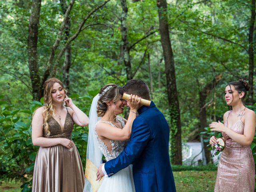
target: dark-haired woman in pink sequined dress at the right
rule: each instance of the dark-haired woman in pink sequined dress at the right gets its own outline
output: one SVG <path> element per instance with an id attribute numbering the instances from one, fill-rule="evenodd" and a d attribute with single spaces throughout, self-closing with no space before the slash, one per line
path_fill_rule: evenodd
<path id="1" fill-rule="evenodd" d="M 244 80 L 230 82 L 225 88 L 226 103 L 232 108 L 224 116 L 224 124 L 212 122 L 212 131 L 222 132 L 226 147 L 222 152 L 214 192 L 254 192 L 255 167 L 250 144 L 255 133 L 255 113 L 244 106 L 249 90 Z M 210 138 L 210 144 L 216 144 Z"/>

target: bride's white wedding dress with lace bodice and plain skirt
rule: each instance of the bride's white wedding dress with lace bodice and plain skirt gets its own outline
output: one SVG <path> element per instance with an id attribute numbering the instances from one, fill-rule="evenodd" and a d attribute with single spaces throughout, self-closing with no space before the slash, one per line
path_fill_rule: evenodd
<path id="1" fill-rule="evenodd" d="M 125 122 L 121 116 L 116 116 L 116 120 L 121 123 L 122 128 Z M 116 127 L 112 122 L 99 121 L 108 123 L 113 127 Z M 97 122 L 98 123 L 98 122 Z M 125 148 L 127 141 L 114 141 L 111 140 L 112 151 L 108 151 L 108 148 L 104 142 L 99 138 L 95 131 L 96 141 L 102 154 L 105 156 L 106 160 L 116 158 Z M 134 181 L 132 176 L 132 165 L 120 170 L 111 177 L 104 177 L 98 192 L 135 192 Z"/>

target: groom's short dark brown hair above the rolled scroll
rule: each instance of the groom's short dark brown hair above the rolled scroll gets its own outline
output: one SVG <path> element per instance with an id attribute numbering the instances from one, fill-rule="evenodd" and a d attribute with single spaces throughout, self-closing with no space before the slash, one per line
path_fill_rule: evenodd
<path id="1" fill-rule="evenodd" d="M 134 94 L 143 99 L 150 100 L 150 92 L 148 85 L 140 79 L 129 80 L 121 89 L 121 94 Z"/>

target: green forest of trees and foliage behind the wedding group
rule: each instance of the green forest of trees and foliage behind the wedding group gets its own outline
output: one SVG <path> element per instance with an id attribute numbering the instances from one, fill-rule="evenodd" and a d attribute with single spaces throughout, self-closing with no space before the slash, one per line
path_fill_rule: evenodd
<path id="1" fill-rule="evenodd" d="M 247 80 L 245 104 L 256 110 L 255 39 L 255 0 L 1 1 L 0 180 L 29 191 L 38 149 L 31 118 L 50 77 L 87 115 L 103 85 L 144 80 L 170 125 L 171 163 L 181 165 L 182 145 L 198 141 L 202 164 L 212 164 L 217 134 L 208 124 L 228 110 L 226 84 Z M 87 136 L 75 126 L 84 167 Z M 256 138 L 251 149 L 256 160 Z"/>

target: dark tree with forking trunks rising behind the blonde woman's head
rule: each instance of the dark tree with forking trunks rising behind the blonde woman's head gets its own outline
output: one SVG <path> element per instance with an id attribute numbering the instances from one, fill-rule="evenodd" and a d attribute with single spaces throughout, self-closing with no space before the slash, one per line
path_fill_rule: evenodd
<path id="1" fill-rule="evenodd" d="M 29 53 L 29 60 L 30 60 L 29 63 L 30 63 L 30 76 L 31 76 L 31 82 L 32 82 L 33 99 L 40 100 L 40 98 L 43 96 L 44 82 L 47 80 L 47 78 L 49 76 L 54 77 L 56 75 L 56 69 L 59 66 L 60 59 L 63 56 L 63 54 L 65 53 L 65 51 L 70 47 L 70 43 L 77 38 L 77 36 L 83 30 L 85 22 L 92 16 L 92 14 L 94 14 L 94 12 L 96 12 L 100 8 L 102 8 L 109 1 L 110 0 L 105 0 L 104 2 L 102 2 L 101 4 L 99 4 L 98 6 L 93 8 L 88 14 L 86 14 L 86 16 L 84 16 L 84 18 L 80 22 L 78 30 L 75 32 L 75 34 L 73 36 L 71 36 L 70 38 L 66 38 L 66 40 L 65 40 L 66 43 L 64 43 L 64 47 L 60 49 L 60 52 L 58 53 L 58 55 L 55 59 L 55 62 L 54 62 L 56 51 L 57 51 L 58 47 L 60 46 L 63 31 L 64 30 L 70 31 L 70 29 L 68 29 L 68 27 L 70 27 L 70 26 L 68 26 L 68 20 L 70 19 L 70 11 L 74 5 L 75 0 L 70 0 L 69 5 L 66 7 L 65 6 L 63 7 L 64 10 L 66 10 L 66 12 L 63 16 L 62 23 L 58 30 L 56 40 L 51 47 L 50 56 L 48 58 L 48 62 L 46 64 L 46 69 L 44 70 L 44 74 L 43 74 L 42 78 L 40 78 L 40 76 L 38 74 L 39 65 L 38 65 L 38 61 L 37 61 L 37 38 L 38 38 L 38 24 L 39 24 L 41 1 L 39 1 L 39 0 L 33 1 L 32 12 L 31 12 L 30 21 L 29 21 L 30 33 L 28 36 L 28 48 L 29 48 L 28 53 Z M 61 1 L 61 2 L 62 2 L 62 6 L 63 6 L 63 1 Z M 40 5 L 40 6 L 38 6 L 38 5 Z M 70 59 L 69 58 L 70 52 L 66 52 L 66 53 L 67 53 L 66 56 L 68 57 L 68 59 Z M 68 66 L 66 68 L 64 67 L 64 70 L 66 70 L 66 71 L 69 70 L 69 67 L 70 66 Z"/>

